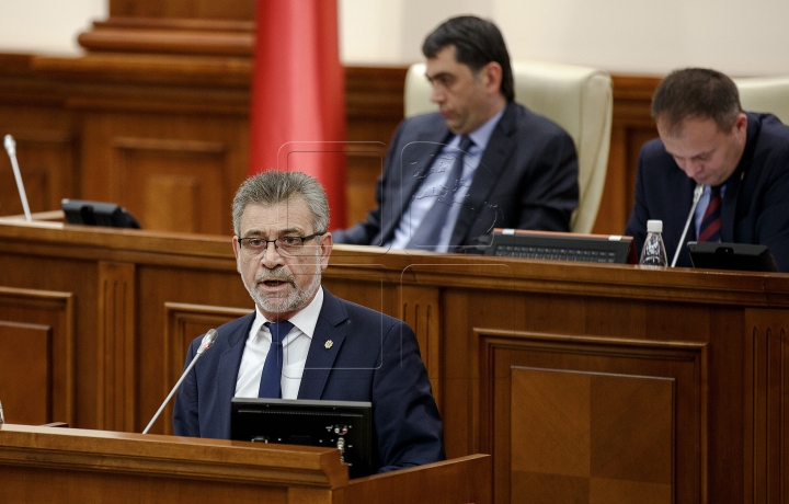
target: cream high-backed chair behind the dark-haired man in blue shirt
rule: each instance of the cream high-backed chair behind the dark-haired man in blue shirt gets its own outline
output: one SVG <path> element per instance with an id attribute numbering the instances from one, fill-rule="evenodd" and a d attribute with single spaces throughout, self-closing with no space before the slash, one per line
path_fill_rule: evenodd
<path id="1" fill-rule="evenodd" d="M 405 116 L 437 110 L 424 64 L 405 76 Z M 590 232 L 597 217 L 608 165 L 613 93 L 610 76 L 574 65 L 513 61 L 515 101 L 563 127 L 579 157 L 579 207 L 571 230 Z"/>

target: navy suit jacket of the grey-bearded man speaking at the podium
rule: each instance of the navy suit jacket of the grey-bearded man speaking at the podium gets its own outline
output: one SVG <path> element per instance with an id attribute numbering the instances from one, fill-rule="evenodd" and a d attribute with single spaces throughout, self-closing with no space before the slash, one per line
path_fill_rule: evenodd
<path id="1" fill-rule="evenodd" d="M 179 389 L 175 435 L 230 438 L 230 400 L 254 317 L 218 328 L 214 346 Z M 201 341 L 192 342 L 186 365 Z M 411 328 L 325 289 L 298 398 L 371 402 L 381 471 L 446 458 L 438 409 Z"/>

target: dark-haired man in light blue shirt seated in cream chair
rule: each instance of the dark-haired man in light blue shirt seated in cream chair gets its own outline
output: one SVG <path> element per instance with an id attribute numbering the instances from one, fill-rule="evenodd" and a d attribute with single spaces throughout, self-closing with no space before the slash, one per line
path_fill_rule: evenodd
<path id="1" fill-rule="evenodd" d="M 439 112 L 403 121 L 392 137 L 367 220 L 336 243 L 474 252 L 493 228 L 569 231 L 578 159 L 557 124 L 515 103 L 499 28 L 446 21 L 424 42 Z"/>

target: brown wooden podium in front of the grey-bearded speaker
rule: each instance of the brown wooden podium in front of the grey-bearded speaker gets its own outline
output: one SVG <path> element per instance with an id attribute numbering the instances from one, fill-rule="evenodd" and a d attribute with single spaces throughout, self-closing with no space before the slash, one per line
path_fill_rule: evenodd
<path id="1" fill-rule="evenodd" d="M 491 459 L 474 455 L 348 480 L 339 450 L 0 425 L 0 502 L 491 502 Z"/>

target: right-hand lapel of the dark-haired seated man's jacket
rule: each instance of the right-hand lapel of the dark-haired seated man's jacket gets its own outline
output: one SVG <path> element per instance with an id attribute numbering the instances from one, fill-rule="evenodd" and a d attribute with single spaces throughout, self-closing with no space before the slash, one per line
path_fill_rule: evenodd
<path id="1" fill-rule="evenodd" d="M 488 146 L 482 152 L 482 159 L 471 180 L 468 197 L 460 207 L 449 245 L 460 245 L 468 239 L 467 234 L 483 205 L 487 204 L 491 191 L 504 176 L 507 160 L 515 149 L 515 140 L 512 137 L 515 129 L 515 112 L 516 105 L 512 102 L 507 103 L 504 114 L 488 140 Z M 495 215 L 501 215 L 501 211 L 496 211 Z M 501 226 L 501 222 L 490 222 L 490 225 L 492 228 L 495 225 Z"/>

